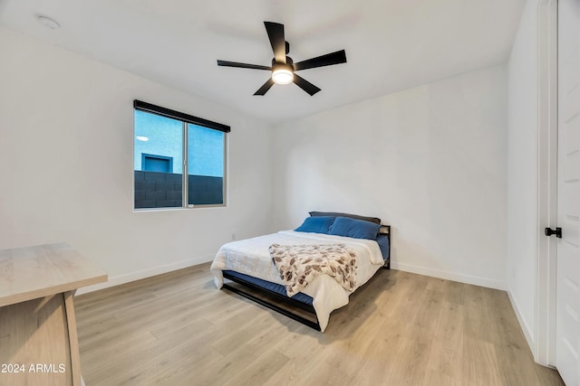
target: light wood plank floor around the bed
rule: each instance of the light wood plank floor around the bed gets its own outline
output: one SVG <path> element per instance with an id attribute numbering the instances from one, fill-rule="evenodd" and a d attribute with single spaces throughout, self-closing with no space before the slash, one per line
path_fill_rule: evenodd
<path id="1" fill-rule="evenodd" d="M 209 266 L 75 298 L 96 385 L 562 385 L 503 291 L 382 269 L 321 334 L 216 289 Z"/>

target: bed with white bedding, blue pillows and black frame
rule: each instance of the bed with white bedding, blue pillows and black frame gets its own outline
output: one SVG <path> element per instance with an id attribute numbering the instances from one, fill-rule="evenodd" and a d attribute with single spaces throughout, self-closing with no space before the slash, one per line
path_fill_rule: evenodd
<path id="1" fill-rule="evenodd" d="M 333 310 L 347 305 L 349 296 L 380 268 L 390 268 L 391 227 L 382 225 L 379 218 L 349 213 L 310 215 L 294 231 L 228 242 L 218 250 L 210 270 L 218 288 L 236 292 L 324 332 Z M 345 285 L 337 278 L 339 275 L 333 278 L 319 274 L 289 297 L 288 281 L 281 276 L 280 263 L 273 257 L 288 251 L 302 253 L 304 249 L 321 249 L 323 254 L 327 251 L 324 249 L 348 251 L 355 259 L 355 264 L 351 262 L 352 279 Z M 348 266 L 348 262 L 345 264 Z"/>

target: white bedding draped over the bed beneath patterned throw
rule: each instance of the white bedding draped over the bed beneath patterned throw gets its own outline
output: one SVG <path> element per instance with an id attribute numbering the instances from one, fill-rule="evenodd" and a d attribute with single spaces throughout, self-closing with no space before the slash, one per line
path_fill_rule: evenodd
<path id="1" fill-rule="evenodd" d="M 381 249 L 375 240 L 352 239 L 322 233 L 279 231 L 253 239 L 228 242 L 222 246 L 210 268 L 215 276 L 216 286 L 223 287 L 222 270 L 227 269 L 284 285 L 268 252 L 270 245 L 275 243 L 281 245 L 345 244 L 356 253 L 357 269 L 354 290 L 372 278 L 377 269 L 384 264 Z M 352 293 L 328 275 L 315 278 L 302 292 L 313 298 L 314 311 L 322 332 L 328 325 L 331 312 L 346 306 L 348 297 Z"/>

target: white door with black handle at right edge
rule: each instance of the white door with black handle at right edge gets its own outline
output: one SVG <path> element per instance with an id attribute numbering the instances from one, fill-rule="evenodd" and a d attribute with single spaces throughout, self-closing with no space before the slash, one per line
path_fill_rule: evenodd
<path id="1" fill-rule="evenodd" d="M 556 367 L 580 386 L 580 0 L 558 1 Z"/>

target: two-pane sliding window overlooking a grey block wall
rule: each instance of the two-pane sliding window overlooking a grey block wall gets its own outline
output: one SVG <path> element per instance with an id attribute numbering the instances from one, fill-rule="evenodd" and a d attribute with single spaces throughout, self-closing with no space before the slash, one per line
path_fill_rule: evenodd
<path id="1" fill-rule="evenodd" d="M 140 100 L 133 108 L 135 209 L 225 205 L 230 128 Z"/>

